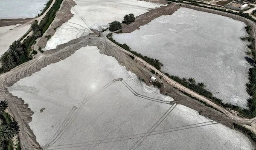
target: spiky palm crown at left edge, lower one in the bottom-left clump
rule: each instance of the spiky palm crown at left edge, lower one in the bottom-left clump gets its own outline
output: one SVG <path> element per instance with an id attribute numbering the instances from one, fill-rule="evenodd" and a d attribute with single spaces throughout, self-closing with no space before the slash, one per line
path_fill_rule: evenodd
<path id="1" fill-rule="evenodd" d="M 0 121 L 0 139 L 3 141 L 11 141 L 17 133 L 19 133 L 17 121 L 13 121 L 10 124 L 4 124 L 3 121 Z"/>

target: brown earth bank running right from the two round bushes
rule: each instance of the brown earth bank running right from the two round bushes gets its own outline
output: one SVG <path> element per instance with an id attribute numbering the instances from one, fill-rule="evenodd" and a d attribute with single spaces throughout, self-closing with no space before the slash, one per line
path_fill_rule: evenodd
<path id="1" fill-rule="evenodd" d="M 122 23 L 122 33 L 131 33 L 134 30 L 140 29 L 139 27 L 141 25 L 148 24 L 151 20 L 163 16 L 163 15 L 171 15 L 176 10 L 180 8 L 177 4 L 171 3 L 168 6 L 162 6 L 159 8 L 151 9 L 150 11 L 140 15 L 139 17 L 136 17 L 136 20 L 126 25 Z"/>

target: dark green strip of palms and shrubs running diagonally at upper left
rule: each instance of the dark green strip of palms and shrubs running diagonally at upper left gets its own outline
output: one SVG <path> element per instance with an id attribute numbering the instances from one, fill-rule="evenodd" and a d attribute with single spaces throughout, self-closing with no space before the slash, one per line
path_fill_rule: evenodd
<path id="1" fill-rule="evenodd" d="M 10 45 L 10 51 L 6 51 L 0 58 L 0 62 L 2 64 L 0 73 L 9 71 L 12 68 L 15 68 L 17 65 L 31 60 L 32 54 L 37 54 L 36 51 L 31 50 L 31 47 L 36 43 L 37 38 L 42 37 L 44 32 L 48 29 L 49 25 L 54 20 L 56 12 L 60 8 L 62 1 L 63 0 L 55 1 L 52 8 L 47 12 L 46 16 L 43 18 L 39 25 L 37 21 L 31 25 L 33 31 L 33 35 L 31 37 L 27 37 L 23 43 L 20 43 L 20 41 L 15 41 L 12 43 L 12 45 Z M 51 2 L 51 0 L 49 2 Z M 51 4 L 49 2 L 47 3 L 48 5 Z"/>

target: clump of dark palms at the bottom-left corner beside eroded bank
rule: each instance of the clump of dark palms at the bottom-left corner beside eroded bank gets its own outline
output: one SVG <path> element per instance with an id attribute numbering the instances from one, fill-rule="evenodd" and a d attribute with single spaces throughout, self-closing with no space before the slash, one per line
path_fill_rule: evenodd
<path id="1" fill-rule="evenodd" d="M 7 105 L 6 100 L 0 102 L 0 150 L 12 148 L 12 139 L 19 133 L 18 122 L 12 120 L 11 116 L 5 112 Z"/>

